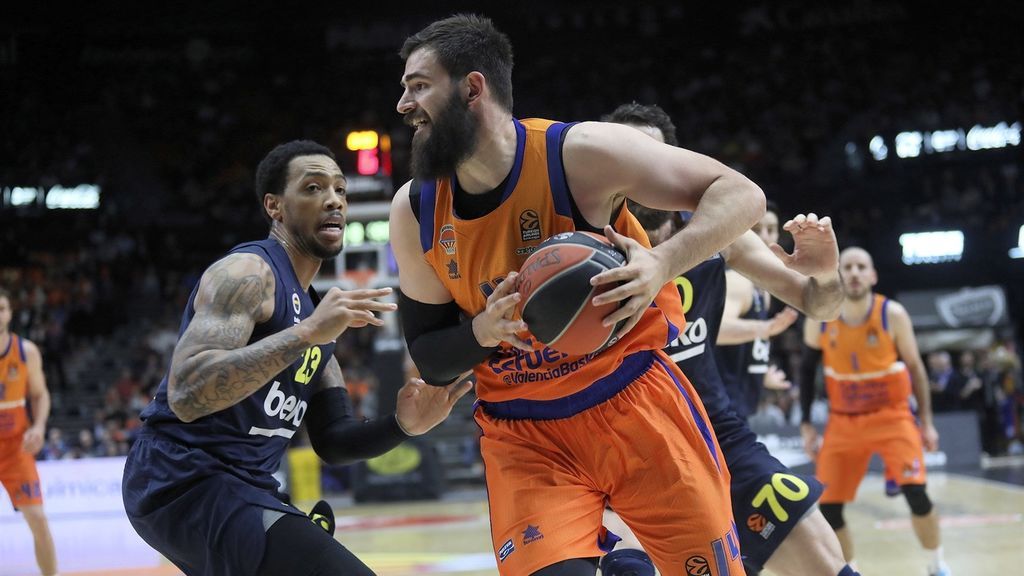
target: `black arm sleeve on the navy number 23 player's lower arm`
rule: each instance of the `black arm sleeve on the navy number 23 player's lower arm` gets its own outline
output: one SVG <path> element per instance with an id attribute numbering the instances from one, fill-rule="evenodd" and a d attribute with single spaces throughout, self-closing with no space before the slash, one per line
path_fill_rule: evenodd
<path id="1" fill-rule="evenodd" d="M 409 438 L 394 414 L 373 420 L 357 419 L 352 415 L 348 390 L 340 386 L 313 395 L 306 426 L 313 451 L 333 465 L 380 456 Z"/>

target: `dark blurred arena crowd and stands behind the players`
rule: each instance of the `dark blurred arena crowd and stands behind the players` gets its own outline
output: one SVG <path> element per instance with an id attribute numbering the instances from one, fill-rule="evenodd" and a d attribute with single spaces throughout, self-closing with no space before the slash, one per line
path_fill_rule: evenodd
<path id="1" fill-rule="evenodd" d="M 391 138 L 395 187 L 407 179 L 396 51 L 444 15 L 433 9 L 274 17 L 207 7 L 121 18 L 97 10 L 0 25 L 0 189 L 103 191 L 96 210 L 0 209 L 11 328 L 40 344 L 54 398 L 40 457 L 126 452 L 203 269 L 266 234 L 252 179 L 270 148 L 316 139 L 350 172 L 344 135 L 374 129 Z M 1018 142 L 997 150 L 877 160 L 869 145 L 903 131 L 1019 123 L 1024 40 L 1013 3 L 938 13 L 882 2 L 525 1 L 488 15 L 516 49 L 517 116 L 586 120 L 631 100 L 657 104 L 681 146 L 749 175 L 783 221 L 831 215 L 841 245 L 874 254 L 880 291 L 1004 285 L 1014 325 L 992 345 L 930 351 L 927 362 L 937 411 L 977 411 L 986 452 L 1021 450 L 1014 334 L 1024 260 L 1007 259 L 1024 224 L 1019 124 Z M 962 262 L 900 262 L 899 233 L 948 228 L 971 239 Z M 368 414 L 373 338 L 349 331 L 338 345 Z M 797 328 L 774 343 L 792 377 L 800 345 Z M 799 421 L 798 387 L 766 395 L 755 417 Z"/>

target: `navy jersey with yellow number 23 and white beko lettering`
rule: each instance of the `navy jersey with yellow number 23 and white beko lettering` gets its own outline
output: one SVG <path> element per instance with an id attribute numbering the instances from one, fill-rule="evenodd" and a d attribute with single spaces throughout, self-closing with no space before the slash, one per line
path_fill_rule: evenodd
<path id="1" fill-rule="evenodd" d="M 312 314 L 318 301 L 316 293 L 311 287 L 308 292 L 302 289 L 288 254 L 276 240 L 240 244 L 229 253 L 260 256 L 270 264 L 276 280 L 273 315 L 254 327 L 249 343 L 291 328 Z M 193 303 L 198 290 L 197 283 L 182 315 L 178 337 L 195 315 Z M 289 441 L 302 423 L 334 346 L 330 343 L 309 347 L 249 398 L 187 423 L 179 420 L 168 405 L 165 375 L 156 398 L 142 411 L 143 430 L 201 449 L 248 483 L 275 490 L 278 483 L 270 475 L 276 471 Z M 200 470 L 183 471 L 190 477 L 202 476 Z"/>

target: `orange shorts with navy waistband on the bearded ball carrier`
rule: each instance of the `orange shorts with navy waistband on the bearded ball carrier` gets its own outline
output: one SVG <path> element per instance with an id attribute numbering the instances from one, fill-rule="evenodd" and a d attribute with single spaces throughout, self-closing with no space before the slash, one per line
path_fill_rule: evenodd
<path id="1" fill-rule="evenodd" d="M 567 398 L 481 401 L 476 421 L 502 575 L 610 551 L 606 505 L 663 574 L 743 574 L 725 460 L 696 393 L 660 351 L 627 357 Z"/>

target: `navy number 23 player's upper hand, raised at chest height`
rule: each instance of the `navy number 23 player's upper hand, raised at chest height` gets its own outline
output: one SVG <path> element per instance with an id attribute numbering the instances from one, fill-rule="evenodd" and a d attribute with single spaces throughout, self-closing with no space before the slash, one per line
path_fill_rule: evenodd
<path id="1" fill-rule="evenodd" d="M 359 290 L 342 290 L 334 287 L 324 294 L 316 304 L 308 323 L 310 339 L 316 344 L 326 344 L 338 338 L 348 328 L 364 326 L 381 326 L 384 321 L 375 312 L 394 312 L 398 304 L 382 302 L 382 298 L 391 293 L 390 288 L 364 288 Z"/>

